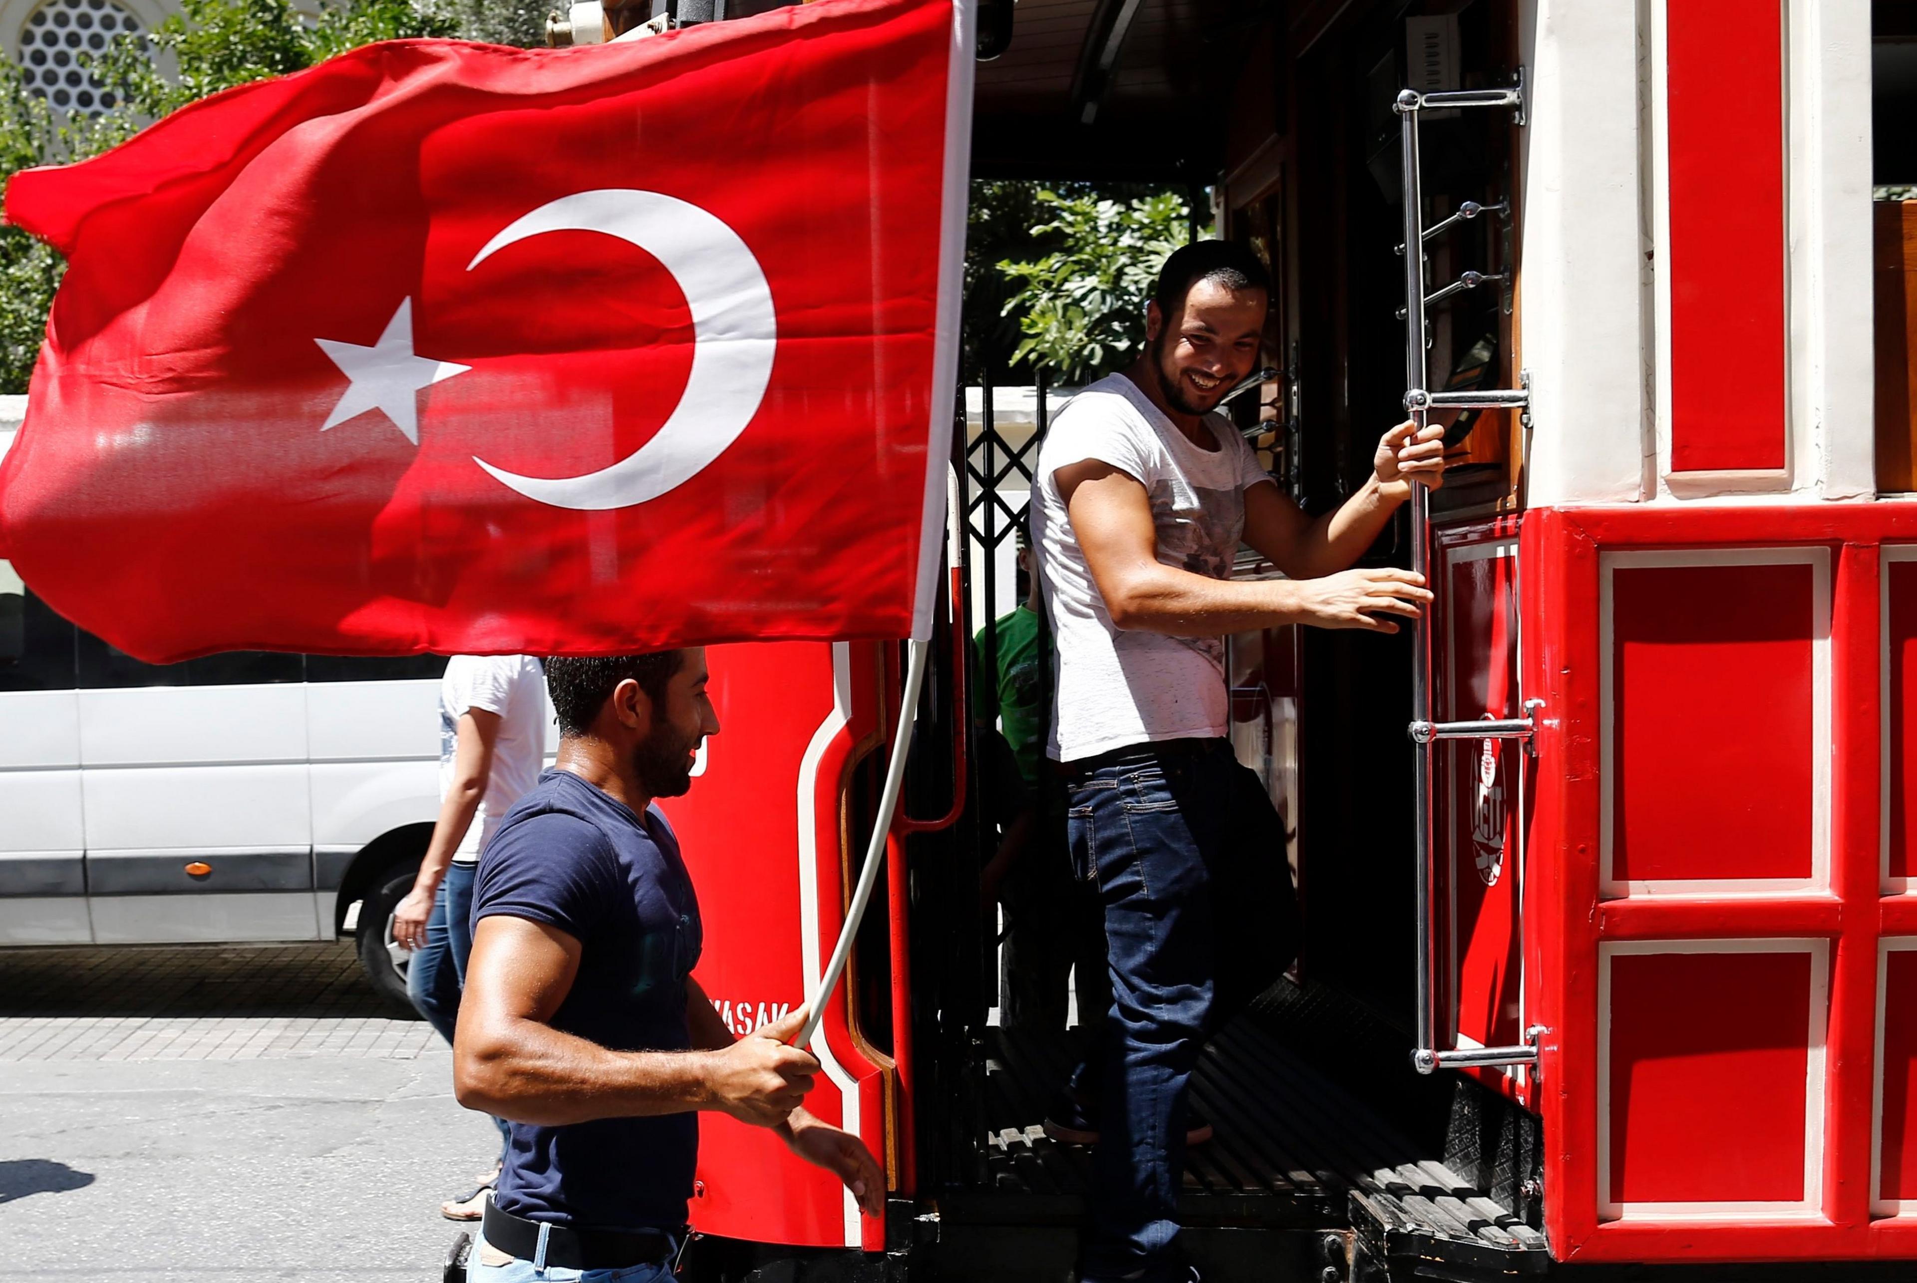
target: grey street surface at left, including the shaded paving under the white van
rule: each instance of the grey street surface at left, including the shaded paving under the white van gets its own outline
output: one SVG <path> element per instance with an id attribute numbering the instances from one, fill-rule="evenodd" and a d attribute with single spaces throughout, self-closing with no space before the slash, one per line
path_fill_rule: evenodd
<path id="1" fill-rule="evenodd" d="M 497 1133 L 347 945 L 0 951 L 0 1279 L 437 1283 Z"/>

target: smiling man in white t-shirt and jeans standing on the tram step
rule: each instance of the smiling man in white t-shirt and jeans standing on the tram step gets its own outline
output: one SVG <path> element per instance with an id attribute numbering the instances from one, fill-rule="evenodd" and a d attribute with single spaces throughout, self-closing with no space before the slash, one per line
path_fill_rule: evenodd
<path id="1" fill-rule="evenodd" d="M 1173 253 L 1123 374 L 1072 399 L 1031 485 L 1051 616 L 1049 754 L 1070 779 L 1072 859 L 1097 880 L 1112 1009 L 1045 1126 L 1097 1143 L 1081 1279 L 1185 1281 L 1185 1105 L 1198 1053 L 1290 965 L 1284 828 L 1233 756 L 1225 637 L 1286 623 L 1396 633 L 1430 600 L 1405 570 L 1346 570 L 1413 483 L 1444 478 L 1444 432 L 1384 433 L 1371 479 L 1311 518 L 1212 410 L 1258 366 L 1269 284 L 1250 249 Z M 1233 581 L 1248 543 L 1290 575 Z"/>

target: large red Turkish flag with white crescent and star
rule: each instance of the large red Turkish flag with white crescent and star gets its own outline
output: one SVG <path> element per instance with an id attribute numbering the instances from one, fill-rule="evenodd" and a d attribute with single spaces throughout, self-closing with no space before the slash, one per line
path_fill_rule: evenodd
<path id="1" fill-rule="evenodd" d="M 397 40 L 8 186 L 0 556 L 151 662 L 924 635 L 962 0 Z"/>

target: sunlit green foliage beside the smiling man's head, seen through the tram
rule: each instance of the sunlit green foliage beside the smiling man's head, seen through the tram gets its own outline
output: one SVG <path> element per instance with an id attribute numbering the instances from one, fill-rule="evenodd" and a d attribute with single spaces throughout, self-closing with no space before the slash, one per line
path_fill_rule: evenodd
<path id="1" fill-rule="evenodd" d="M 1012 362 L 1081 384 L 1137 353 L 1158 268 L 1190 240 L 1190 207 L 1175 192 L 1120 199 L 1041 190 L 1033 199 L 1047 221 L 1031 236 L 1052 247 L 997 265 L 1012 286 L 1001 311 L 1022 336 Z"/>

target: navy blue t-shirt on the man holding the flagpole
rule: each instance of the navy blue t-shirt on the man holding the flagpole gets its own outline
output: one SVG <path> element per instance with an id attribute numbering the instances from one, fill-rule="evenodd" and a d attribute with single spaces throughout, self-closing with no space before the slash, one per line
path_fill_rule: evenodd
<path id="1" fill-rule="evenodd" d="M 700 905 L 658 811 L 631 807 L 569 771 L 546 771 L 479 857 L 473 926 L 504 915 L 579 942 L 579 974 L 552 1028 L 613 1051 L 684 1051 L 686 976 L 700 961 Z M 495 1202 L 581 1229 L 681 1229 L 698 1160 L 698 1114 L 512 1124 Z"/>

